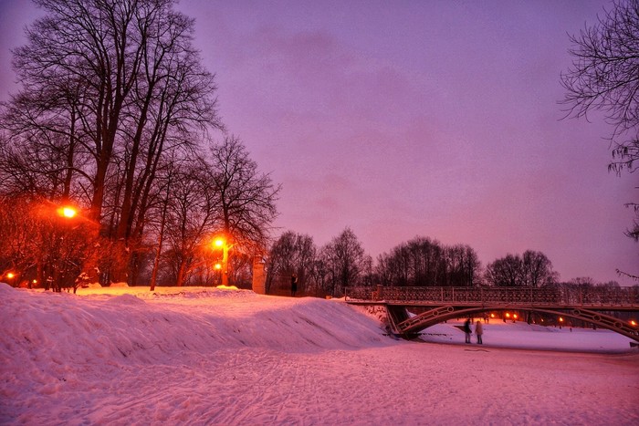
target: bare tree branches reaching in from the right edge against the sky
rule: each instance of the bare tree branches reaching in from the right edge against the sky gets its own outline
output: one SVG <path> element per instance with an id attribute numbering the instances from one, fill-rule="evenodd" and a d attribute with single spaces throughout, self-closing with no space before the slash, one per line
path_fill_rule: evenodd
<path id="1" fill-rule="evenodd" d="M 571 36 L 572 66 L 561 75 L 568 116 L 601 110 L 613 126 L 610 170 L 634 172 L 639 160 L 639 1 L 615 0 L 597 24 Z M 639 204 L 627 235 L 639 241 Z"/>

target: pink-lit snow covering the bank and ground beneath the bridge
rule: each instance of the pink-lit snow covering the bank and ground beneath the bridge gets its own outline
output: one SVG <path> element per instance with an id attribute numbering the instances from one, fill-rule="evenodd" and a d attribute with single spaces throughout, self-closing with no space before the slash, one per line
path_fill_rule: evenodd
<path id="1" fill-rule="evenodd" d="M 0 424 L 639 424 L 639 350 L 605 330 L 407 342 L 340 300 L 3 284 L 0 324 Z"/>

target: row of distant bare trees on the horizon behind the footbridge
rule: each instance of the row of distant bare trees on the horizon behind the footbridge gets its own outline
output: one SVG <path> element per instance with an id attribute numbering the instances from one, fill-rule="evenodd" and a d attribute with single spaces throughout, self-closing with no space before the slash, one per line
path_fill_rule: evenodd
<path id="1" fill-rule="evenodd" d="M 372 257 L 361 248 L 350 228 L 317 247 L 313 238 L 287 231 L 267 252 L 267 293 L 288 294 L 290 277 L 298 277 L 299 293 L 343 296 L 348 286 L 502 286 L 617 288 L 619 283 L 595 283 L 580 277 L 561 282 L 550 259 L 541 252 L 505 255 L 482 267 L 475 250 L 464 244 L 445 245 L 428 237 L 398 244 Z"/>

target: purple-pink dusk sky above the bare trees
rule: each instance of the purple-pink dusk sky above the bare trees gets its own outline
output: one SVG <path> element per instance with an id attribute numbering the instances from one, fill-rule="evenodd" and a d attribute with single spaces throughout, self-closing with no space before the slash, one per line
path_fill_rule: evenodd
<path id="1" fill-rule="evenodd" d="M 623 235 L 636 176 L 609 173 L 598 117 L 564 119 L 567 33 L 606 1 L 183 0 L 220 113 L 283 184 L 277 226 L 326 244 L 347 226 L 376 258 L 416 235 L 483 265 L 537 250 L 561 279 L 639 270 Z M 9 48 L 37 10 L 0 0 Z"/>

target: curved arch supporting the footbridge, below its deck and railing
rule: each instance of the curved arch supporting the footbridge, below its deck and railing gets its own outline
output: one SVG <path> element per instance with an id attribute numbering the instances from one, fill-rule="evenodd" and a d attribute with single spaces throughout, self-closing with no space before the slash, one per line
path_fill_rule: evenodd
<path id="1" fill-rule="evenodd" d="M 393 332 L 403 336 L 404 338 L 414 337 L 425 328 L 434 326 L 435 324 L 442 323 L 449 319 L 458 317 L 474 317 L 477 314 L 484 312 L 507 310 L 538 312 L 556 315 L 558 317 L 571 317 L 594 324 L 597 327 L 612 330 L 626 338 L 632 338 L 639 342 L 639 329 L 637 327 L 633 327 L 619 318 L 589 309 L 582 309 L 580 307 L 554 309 L 549 307 L 456 307 L 453 305 L 446 305 L 442 307 L 432 307 L 422 314 L 410 317 L 408 315 L 407 307 L 386 305 L 386 311 L 389 322 L 391 323 L 390 325 L 393 328 Z"/>

